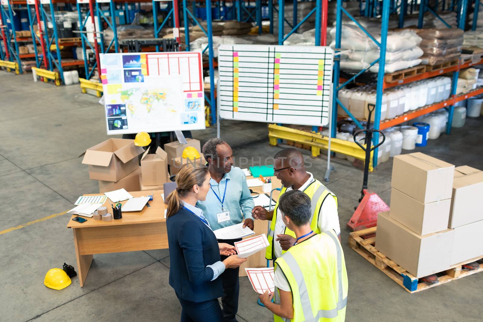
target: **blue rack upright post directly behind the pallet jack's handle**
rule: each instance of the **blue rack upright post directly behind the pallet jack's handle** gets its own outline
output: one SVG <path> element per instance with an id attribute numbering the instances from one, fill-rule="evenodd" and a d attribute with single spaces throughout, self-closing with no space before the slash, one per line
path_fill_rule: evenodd
<path id="1" fill-rule="evenodd" d="M 376 107 L 374 114 L 374 129 L 378 130 L 381 125 L 381 105 L 383 101 L 383 84 L 384 84 L 384 69 L 386 63 L 386 42 L 387 42 L 387 28 L 389 27 L 389 0 L 383 0 L 383 14 L 381 23 L 381 56 L 379 57 L 379 70 L 377 73 L 377 88 L 376 88 Z M 379 132 L 374 132 L 374 145 L 379 144 Z M 370 144 L 370 142 L 368 142 Z M 370 147 L 368 147 L 370 148 Z M 377 167 L 377 148 L 374 149 L 372 156 L 372 167 Z"/>

